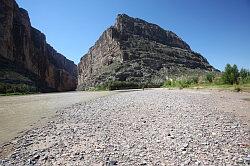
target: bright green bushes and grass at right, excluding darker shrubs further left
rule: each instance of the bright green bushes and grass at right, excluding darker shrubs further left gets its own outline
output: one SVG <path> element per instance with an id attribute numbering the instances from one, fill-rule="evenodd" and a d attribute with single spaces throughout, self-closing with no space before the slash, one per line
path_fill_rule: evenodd
<path id="1" fill-rule="evenodd" d="M 215 87 L 223 89 L 242 89 L 250 91 L 250 71 L 247 69 L 238 70 L 236 65 L 227 64 L 222 73 L 209 72 L 204 75 L 186 76 L 174 79 L 167 79 L 163 87 L 167 88 L 188 88 L 188 87 Z"/>

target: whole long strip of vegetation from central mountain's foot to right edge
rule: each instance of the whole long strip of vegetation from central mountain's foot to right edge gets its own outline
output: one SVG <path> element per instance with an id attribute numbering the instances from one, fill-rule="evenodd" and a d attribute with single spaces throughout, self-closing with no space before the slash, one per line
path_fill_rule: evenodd
<path id="1" fill-rule="evenodd" d="M 190 75 L 167 78 L 162 81 L 137 82 L 137 81 L 108 81 L 95 87 L 85 89 L 90 91 L 119 90 L 119 89 L 144 89 L 144 88 L 222 88 L 241 91 L 250 91 L 250 71 L 238 70 L 236 65 L 227 64 L 223 72 L 193 73 Z"/>

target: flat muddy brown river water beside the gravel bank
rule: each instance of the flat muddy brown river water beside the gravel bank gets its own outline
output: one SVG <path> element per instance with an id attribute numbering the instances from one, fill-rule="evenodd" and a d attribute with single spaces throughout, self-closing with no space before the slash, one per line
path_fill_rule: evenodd
<path id="1" fill-rule="evenodd" d="M 66 92 L 0 97 L 0 145 L 48 122 L 57 110 L 113 92 Z"/>

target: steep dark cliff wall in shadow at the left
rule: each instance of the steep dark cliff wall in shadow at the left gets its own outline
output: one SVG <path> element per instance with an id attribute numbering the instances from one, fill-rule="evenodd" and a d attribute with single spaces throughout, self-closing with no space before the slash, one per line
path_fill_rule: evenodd
<path id="1" fill-rule="evenodd" d="M 0 82 L 24 83 L 39 91 L 74 90 L 77 67 L 57 53 L 26 10 L 14 0 L 0 0 Z"/>

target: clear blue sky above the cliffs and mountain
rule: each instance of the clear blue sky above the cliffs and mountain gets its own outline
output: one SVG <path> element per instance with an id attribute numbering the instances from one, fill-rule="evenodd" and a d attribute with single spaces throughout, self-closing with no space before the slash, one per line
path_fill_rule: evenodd
<path id="1" fill-rule="evenodd" d="M 17 0 L 48 43 L 76 64 L 118 13 L 171 30 L 222 70 L 250 68 L 250 0 Z"/>

